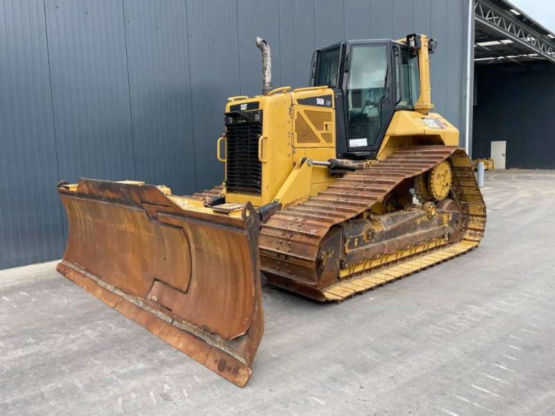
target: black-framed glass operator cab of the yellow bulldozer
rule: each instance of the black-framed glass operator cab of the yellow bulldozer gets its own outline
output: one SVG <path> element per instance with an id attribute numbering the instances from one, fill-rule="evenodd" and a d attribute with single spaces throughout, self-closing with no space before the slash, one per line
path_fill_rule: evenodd
<path id="1" fill-rule="evenodd" d="M 419 41 L 348 40 L 314 51 L 310 85 L 335 94 L 337 157 L 375 157 L 393 113 L 414 110 Z M 429 53 L 435 46 L 432 40 Z"/>

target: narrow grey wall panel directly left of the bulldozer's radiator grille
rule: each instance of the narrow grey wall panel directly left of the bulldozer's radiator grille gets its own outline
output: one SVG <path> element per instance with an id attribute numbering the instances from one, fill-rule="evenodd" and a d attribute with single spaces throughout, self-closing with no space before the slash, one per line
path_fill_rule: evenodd
<path id="1" fill-rule="evenodd" d="M 237 44 L 237 3 L 228 0 L 187 1 L 189 71 L 196 188 L 211 188 L 223 180 L 216 159 L 216 140 L 223 132 L 226 99 L 241 91 Z"/>

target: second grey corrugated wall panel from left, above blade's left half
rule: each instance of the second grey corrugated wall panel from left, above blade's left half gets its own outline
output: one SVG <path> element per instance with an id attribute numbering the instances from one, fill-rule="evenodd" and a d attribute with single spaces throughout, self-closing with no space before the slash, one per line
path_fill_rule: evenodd
<path id="1" fill-rule="evenodd" d="M 121 1 L 45 5 L 60 177 L 135 177 Z"/>

